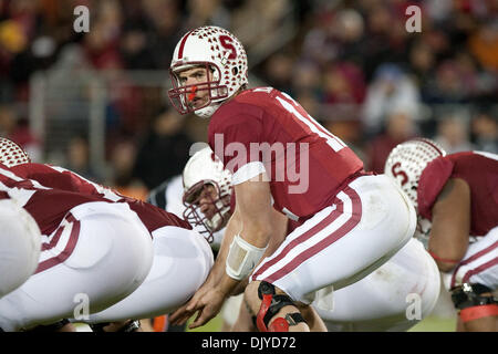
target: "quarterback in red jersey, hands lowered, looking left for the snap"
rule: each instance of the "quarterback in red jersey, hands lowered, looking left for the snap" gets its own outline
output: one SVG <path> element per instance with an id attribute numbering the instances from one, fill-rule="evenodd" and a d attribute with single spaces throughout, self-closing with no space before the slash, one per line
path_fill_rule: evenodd
<path id="1" fill-rule="evenodd" d="M 260 331 L 309 331 L 314 320 L 300 309 L 310 308 L 318 290 L 359 281 L 408 242 L 412 204 L 391 178 L 365 173 L 290 96 L 248 90 L 247 56 L 230 32 L 189 31 L 170 74 L 174 106 L 210 117 L 208 142 L 234 174 L 237 198 L 208 280 L 172 321 L 198 312 L 190 326 L 206 323 L 250 275 L 245 301 Z M 272 207 L 299 227 L 261 260 L 273 235 Z"/>

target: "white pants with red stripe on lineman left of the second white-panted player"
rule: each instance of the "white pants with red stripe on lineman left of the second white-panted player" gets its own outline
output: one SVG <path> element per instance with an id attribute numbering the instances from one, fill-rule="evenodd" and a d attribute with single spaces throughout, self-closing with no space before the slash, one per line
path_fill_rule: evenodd
<path id="1" fill-rule="evenodd" d="M 138 288 L 152 259 L 151 233 L 126 204 L 77 206 L 43 237 L 35 273 L 0 299 L 0 327 L 25 330 L 102 311 Z"/>

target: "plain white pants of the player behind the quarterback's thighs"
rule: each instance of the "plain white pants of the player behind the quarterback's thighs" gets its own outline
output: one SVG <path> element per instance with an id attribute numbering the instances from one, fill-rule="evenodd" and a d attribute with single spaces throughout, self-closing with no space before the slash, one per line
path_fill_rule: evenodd
<path id="1" fill-rule="evenodd" d="M 319 291 L 313 308 L 329 331 L 407 331 L 436 305 L 440 277 L 416 239 L 362 280 Z"/>

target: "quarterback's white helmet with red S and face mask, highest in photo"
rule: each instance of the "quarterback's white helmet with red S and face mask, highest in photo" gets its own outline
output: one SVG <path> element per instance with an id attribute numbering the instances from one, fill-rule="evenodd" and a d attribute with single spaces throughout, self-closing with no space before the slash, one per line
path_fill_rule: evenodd
<path id="1" fill-rule="evenodd" d="M 203 67 L 206 82 L 183 85 L 180 72 Z M 247 55 L 239 40 L 219 27 L 201 27 L 186 33 L 175 48 L 169 69 L 173 88 L 168 91 L 173 106 L 180 113 L 194 112 L 210 117 L 219 105 L 248 83 Z M 207 92 L 207 102 L 195 106 L 190 97 Z M 190 100 L 189 100 L 190 98 Z"/>

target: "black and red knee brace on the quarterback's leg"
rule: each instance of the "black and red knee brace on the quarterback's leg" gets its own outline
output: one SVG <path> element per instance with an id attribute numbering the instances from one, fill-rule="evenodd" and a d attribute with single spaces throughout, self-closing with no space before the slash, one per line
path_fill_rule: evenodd
<path id="1" fill-rule="evenodd" d="M 293 305 L 293 301 L 288 295 L 276 295 L 274 287 L 269 282 L 262 281 L 258 288 L 258 296 L 261 299 L 261 308 L 256 317 L 256 325 L 261 332 L 289 332 L 290 325 L 297 325 L 304 322 L 301 313 L 288 313 L 286 317 L 277 317 L 270 326 L 271 319 L 287 305 Z"/>

